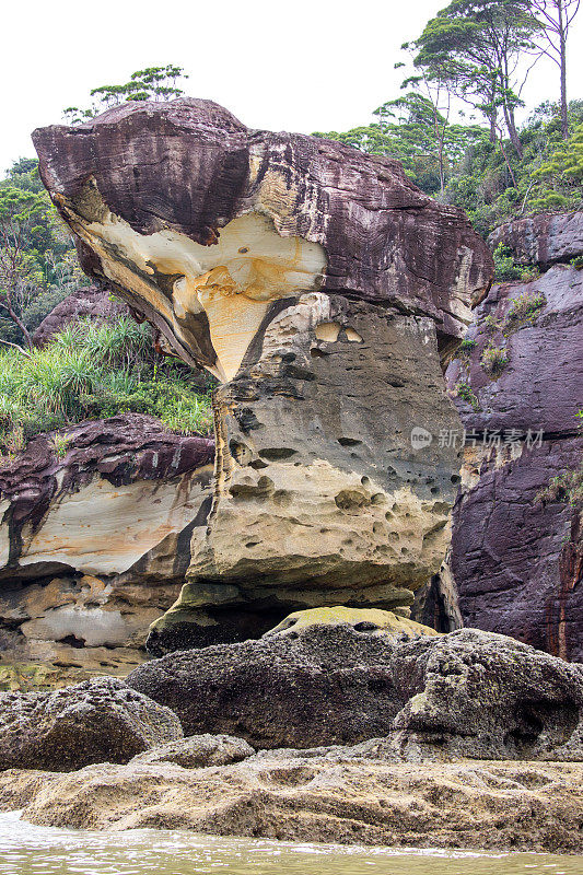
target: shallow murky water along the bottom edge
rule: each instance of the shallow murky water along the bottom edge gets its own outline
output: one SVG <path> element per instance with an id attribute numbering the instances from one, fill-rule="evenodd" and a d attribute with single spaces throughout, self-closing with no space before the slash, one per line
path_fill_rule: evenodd
<path id="1" fill-rule="evenodd" d="M 35 827 L 0 814 L 0 875 L 581 875 L 582 856 L 395 851 L 175 830 Z"/>

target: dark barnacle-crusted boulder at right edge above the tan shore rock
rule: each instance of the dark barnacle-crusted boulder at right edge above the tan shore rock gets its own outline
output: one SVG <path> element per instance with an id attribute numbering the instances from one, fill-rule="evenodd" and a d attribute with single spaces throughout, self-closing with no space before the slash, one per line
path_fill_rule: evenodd
<path id="1" fill-rule="evenodd" d="M 583 669 L 511 638 L 462 629 L 405 642 L 396 745 L 406 759 L 583 759 Z"/>

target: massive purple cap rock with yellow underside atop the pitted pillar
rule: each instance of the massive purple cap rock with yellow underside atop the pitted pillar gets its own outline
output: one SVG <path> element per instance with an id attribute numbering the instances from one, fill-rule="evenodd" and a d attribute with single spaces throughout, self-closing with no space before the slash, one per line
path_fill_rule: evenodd
<path id="1" fill-rule="evenodd" d="M 249 130 L 211 101 L 124 103 L 33 141 L 85 268 L 223 380 L 275 300 L 322 289 L 396 304 L 436 318 L 445 341 L 463 336 L 470 299 L 490 283 L 465 214 L 423 195 L 398 162 Z M 225 317 L 246 331 L 236 351 L 220 342 Z"/>

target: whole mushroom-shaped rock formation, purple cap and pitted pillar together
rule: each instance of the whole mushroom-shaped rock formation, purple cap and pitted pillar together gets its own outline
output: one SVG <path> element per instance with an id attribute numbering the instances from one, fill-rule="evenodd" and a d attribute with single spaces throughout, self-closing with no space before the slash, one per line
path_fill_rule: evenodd
<path id="1" fill-rule="evenodd" d="M 34 142 L 85 270 L 224 384 L 208 527 L 159 638 L 410 604 L 443 558 L 459 467 L 410 433 L 458 427 L 440 354 L 492 272 L 465 215 L 394 161 L 205 101 L 126 104 Z"/>

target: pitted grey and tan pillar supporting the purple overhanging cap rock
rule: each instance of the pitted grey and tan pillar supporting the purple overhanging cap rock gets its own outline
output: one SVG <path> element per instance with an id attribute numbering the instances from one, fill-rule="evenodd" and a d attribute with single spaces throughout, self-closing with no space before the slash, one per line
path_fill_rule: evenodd
<path id="1" fill-rule="evenodd" d="M 413 423 L 459 428 L 431 322 L 312 293 L 259 340 L 214 394 L 214 503 L 154 655 L 257 638 L 294 608 L 411 605 L 447 548 L 458 450 L 410 443 Z"/>

